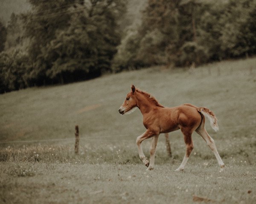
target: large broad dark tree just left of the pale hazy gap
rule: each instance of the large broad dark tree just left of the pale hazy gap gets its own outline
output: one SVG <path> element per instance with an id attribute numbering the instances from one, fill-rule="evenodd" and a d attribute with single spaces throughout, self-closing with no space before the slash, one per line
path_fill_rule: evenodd
<path id="1" fill-rule="evenodd" d="M 23 16 L 32 39 L 29 56 L 35 83 L 64 83 L 110 71 L 120 43 L 118 17 L 125 0 L 30 0 L 34 13 Z"/>

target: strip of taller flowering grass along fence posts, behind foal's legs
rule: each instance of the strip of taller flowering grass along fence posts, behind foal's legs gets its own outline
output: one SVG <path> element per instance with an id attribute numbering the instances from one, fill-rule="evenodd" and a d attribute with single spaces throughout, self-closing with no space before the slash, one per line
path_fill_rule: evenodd
<path id="1" fill-rule="evenodd" d="M 164 140 L 162 138 L 162 140 Z M 71 164 L 141 164 L 135 142 L 119 142 L 119 144 L 83 144 L 80 141 L 79 154 L 74 153 L 74 144 L 30 144 L 17 147 L 16 145 L 0 148 L 0 161 L 11 162 L 49 162 Z M 241 137 L 230 139 L 215 139 L 220 156 L 224 163 L 256 165 L 256 138 Z M 195 148 L 189 163 L 212 163 L 217 161 L 207 144 L 200 136 L 194 134 Z M 150 142 L 143 143 L 143 151 L 149 158 Z M 180 163 L 185 152 L 182 136 L 171 143 L 173 158 L 169 158 L 164 141 L 157 144 L 156 164 Z M 172 161 L 172 162 L 171 162 Z"/>

